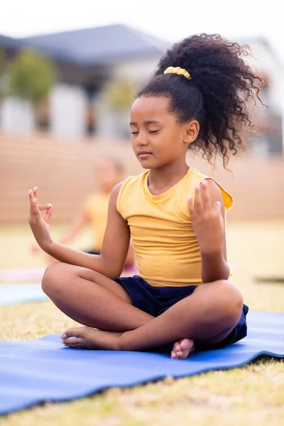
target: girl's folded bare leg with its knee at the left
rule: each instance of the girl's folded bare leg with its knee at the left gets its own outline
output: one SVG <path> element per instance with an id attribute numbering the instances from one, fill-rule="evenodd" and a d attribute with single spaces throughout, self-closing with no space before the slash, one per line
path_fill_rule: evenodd
<path id="1" fill-rule="evenodd" d="M 89 327 L 125 332 L 153 319 L 131 305 L 121 285 L 87 268 L 53 263 L 45 271 L 42 287 L 62 312 Z"/>

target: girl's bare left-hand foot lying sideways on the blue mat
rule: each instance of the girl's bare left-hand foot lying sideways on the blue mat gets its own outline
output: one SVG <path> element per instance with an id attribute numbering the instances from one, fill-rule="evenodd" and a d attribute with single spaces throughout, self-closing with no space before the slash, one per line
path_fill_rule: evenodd
<path id="1" fill-rule="evenodd" d="M 119 350 L 119 337 L 122 333 L 102 332 L 92 327 L 66 329 L 60 334 L 62 344 L 74 349 Z"/>

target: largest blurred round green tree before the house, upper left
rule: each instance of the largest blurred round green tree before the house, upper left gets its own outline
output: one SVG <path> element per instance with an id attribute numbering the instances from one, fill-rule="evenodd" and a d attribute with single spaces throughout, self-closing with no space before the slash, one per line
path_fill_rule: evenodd
<path id="1" fill-rule="evenodd" d="M 54 75 L 51 60 L 32 50 L 22 50 L 9 68 L 10 92 L 37 104 L 48 97 Z"/>

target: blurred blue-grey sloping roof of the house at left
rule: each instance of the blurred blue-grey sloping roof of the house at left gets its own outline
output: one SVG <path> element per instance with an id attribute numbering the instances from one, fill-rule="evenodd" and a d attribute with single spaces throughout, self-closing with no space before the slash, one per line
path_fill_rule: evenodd
<path id="1" fill-rule="evenodd" d="M 121 59 L 161 55 L 168 43 L 129 26 L 111 25 L 22 38 L 55 60 L 80 65 L 107 65 Z M 0 41 L 1 44 L 1 41 Z"/>

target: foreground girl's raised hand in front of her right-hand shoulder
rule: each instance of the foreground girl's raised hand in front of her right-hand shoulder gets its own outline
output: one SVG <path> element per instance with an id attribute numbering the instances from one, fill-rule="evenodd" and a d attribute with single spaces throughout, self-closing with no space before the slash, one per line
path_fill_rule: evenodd
<path id="1" fill-rule="evenodd" d="M 188 209 L 201 252 L 214 254 L 222 251 L 225 223 L 221 202 L 212 201 L 207 180 L 196 185 L 194 204 L 192 197 L 188 197 Z"/>

